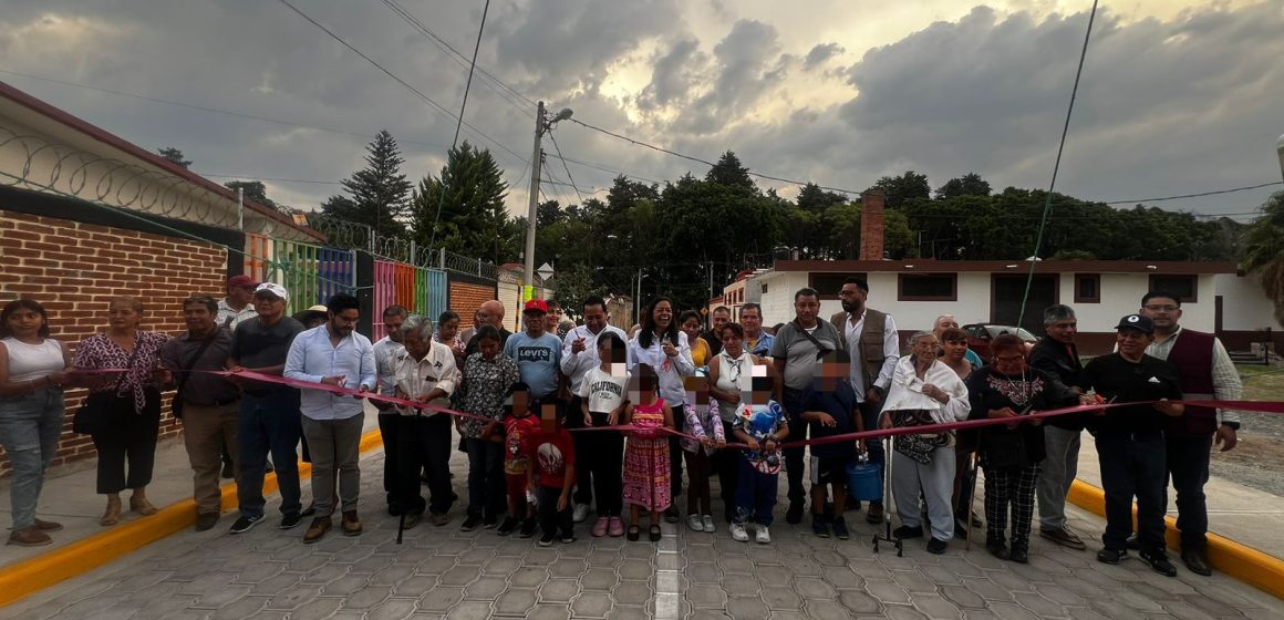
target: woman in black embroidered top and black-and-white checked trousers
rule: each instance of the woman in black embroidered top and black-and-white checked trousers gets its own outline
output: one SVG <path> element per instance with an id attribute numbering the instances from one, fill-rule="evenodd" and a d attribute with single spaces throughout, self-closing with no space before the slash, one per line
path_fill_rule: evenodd
<path id="1" fill-rule="evenodd" d="M 994 356 L 991 365 L 968 377 L 972 404 L 968 417 L 1011 417 L 1014 421 L 986 426 L 980 433 L 978 451 L 981 467 L 985 467 L 985 548 L 1000 560 L 1026 564 L 1044 442 L 1041 420 L 1019 418 L 1032 411 L 1079 404 L 1080 395 L 1057 377 L 1027 366 L 1026 344 L 1012 334 L 995 338 L 990 353 Z M 1009 513 L 1011 549 L 1004 535 Z"/>

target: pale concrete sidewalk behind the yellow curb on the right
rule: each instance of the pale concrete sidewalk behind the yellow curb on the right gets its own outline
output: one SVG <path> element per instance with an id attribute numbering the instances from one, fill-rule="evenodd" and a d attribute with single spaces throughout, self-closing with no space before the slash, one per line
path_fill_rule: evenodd
<path id="1" fill-rule="evenodd" d="M 1079 449 L 1079 479 L 1102 485 L 1097 444 L 1084 433 Z M 1267 556 L 1284 560 L 1284 537 L 1275 529 L 1284 520 L 1284 497 L 1252 489 L 1222 478 L 1204 485 L 1208 502 L 1208 531 L 1220 534 Z M 1177 494 L 1168 488 L 1168 516 L 1177 516 Z"/>

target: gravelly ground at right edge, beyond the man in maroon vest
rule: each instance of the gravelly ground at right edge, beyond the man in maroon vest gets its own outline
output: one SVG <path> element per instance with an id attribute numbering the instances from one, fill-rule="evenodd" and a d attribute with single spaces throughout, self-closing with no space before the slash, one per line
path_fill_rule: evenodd
<path id="1" fill-rule="evenodd" d="M 1284 367 L 1239 366 L 1245 400 L 1284 400 Z M 1284 415 L 1242 412 L 1239 445 L 1213 447 L 1211 474 L 1284 495 Z"/>

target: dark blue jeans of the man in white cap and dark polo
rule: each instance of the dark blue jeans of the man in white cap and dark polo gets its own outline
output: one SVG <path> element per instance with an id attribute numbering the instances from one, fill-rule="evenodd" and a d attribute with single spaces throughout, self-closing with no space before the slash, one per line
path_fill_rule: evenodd
<path id="1" fill-rule="evenodd" d="M 241 516 L 263 516 L 263 471 L 267 453 L 272 452 L 276 481 L 281 489 L 281 513 L 298 515 L 299 501 L 299 438 L 303 426 L 299 413 L 299 390 L 289 388 L 268 394 L 245 394 L 241 398 L 238 440 L 240 442 L 240 474 L 236 501 Z"/>

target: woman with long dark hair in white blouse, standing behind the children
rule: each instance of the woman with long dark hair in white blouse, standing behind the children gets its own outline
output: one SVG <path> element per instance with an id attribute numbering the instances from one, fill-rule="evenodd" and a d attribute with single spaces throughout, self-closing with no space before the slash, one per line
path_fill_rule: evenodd
<path id="1" fill-rule="evenodd" d="M 673 318 L 673 300 L 666 297 L 657 297 L 642 309 L 642 322 L 638 325 L 637 335 L 629 340 L 628 365 L 629 372 L 637 365 L 645 363 L 655 368 L 660 375 L 660 398 L 674 411 L 683 411 L 687 399 L 687 388 L 683 377 L 695 375 L 696 365 L 691 361 L 691 345 L 687 335 L 678 330 L 678 323 Z M 681 416 L 674 416 L 678 431 L 682 431 Z M 672 476 L 670 490 L 673 497 L 682 494 L 682 445 L 678 438 L 669 436 L 669 472 Z M 678 522 L 677 502 L 670 503 L 664 511 L 664 520 Z"/>

